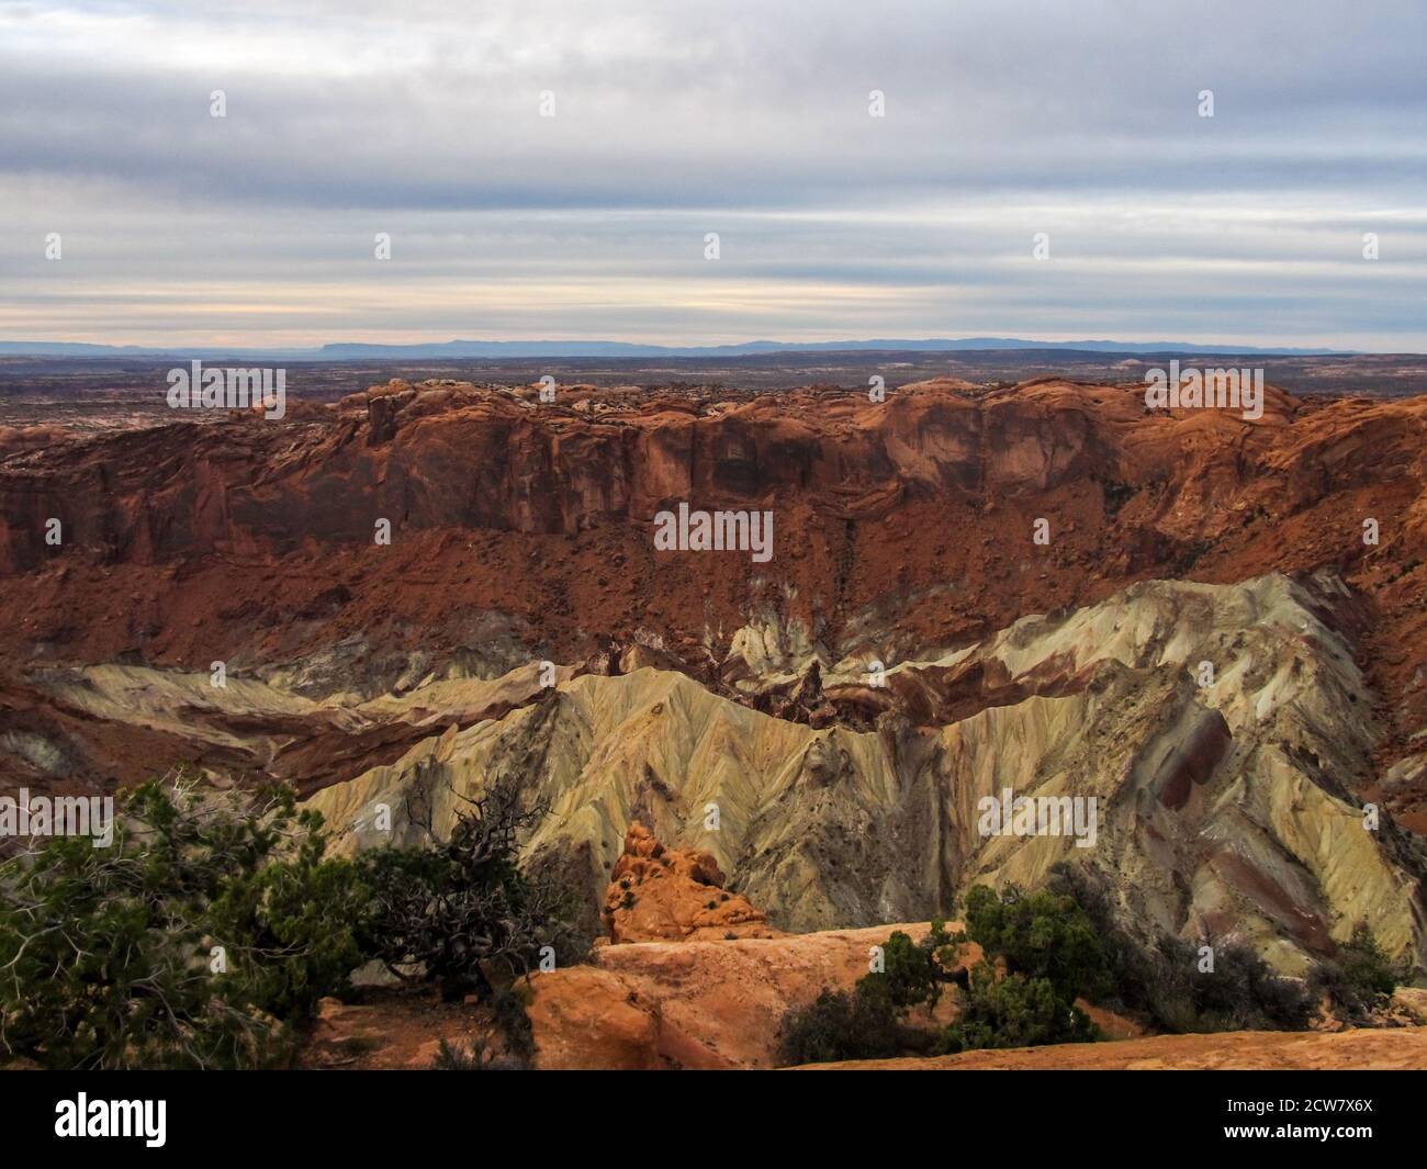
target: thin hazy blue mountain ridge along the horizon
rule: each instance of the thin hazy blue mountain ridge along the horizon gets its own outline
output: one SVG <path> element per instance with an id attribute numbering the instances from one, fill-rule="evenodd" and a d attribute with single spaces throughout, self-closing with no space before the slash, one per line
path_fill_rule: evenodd
<path id="1" fill-rule="evenodd" d="M 1202 345 L 1184 341 L 1032 341 L 1022 337 L 873 338 L 868 341 L 742 341 L 733 345 L 646 345 L 634 341 L 421 341 L 405 345 L 338 341 L 310 348 L 103 345 L 81 341 L 0 341 L 0 355 L 24 357 L 255 357 L 310 361 L 474 357 L 752 357 L 778 353 L 965 353 L 975 350 L 1075 350 L 1080 353 L 1259 354 L 1349 357 L 1356 350 Z"/>

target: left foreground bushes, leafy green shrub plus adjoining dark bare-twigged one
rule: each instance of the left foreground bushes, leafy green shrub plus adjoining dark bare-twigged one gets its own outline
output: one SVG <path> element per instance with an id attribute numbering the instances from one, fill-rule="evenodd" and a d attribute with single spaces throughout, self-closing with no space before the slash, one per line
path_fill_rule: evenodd
<path id="1" fill-rule="evenodd" d="M 285 786 L 154 779 L 114 841 L 57 836 L 0 864 L 0 1053 L 44 1068 L 253 1068 L 287 1062 L 324 996 L 380 961 L 474 995 L 529 1056 L 511 983 L 579 946 L 558 882 L 515 864 L 519 785 L 494 782 L 441 842 L 328 854 Z"/>

